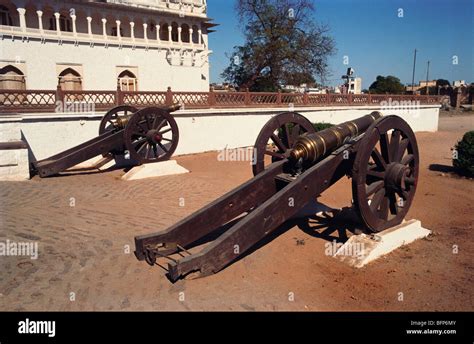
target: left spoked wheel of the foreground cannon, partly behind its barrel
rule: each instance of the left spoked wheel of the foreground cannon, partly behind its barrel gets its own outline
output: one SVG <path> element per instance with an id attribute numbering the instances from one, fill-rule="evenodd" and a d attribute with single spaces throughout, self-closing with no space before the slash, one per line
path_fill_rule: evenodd
<path id="1" fill-rule="evenodd" d="M 296 112 L 284 112 L 270 119 L 255 141 L 253 175 L 265 170 L 265 157 L 270 156 L 272 163 L 287 158 L 300 135 L 314 132 L 311 122 Z"/>

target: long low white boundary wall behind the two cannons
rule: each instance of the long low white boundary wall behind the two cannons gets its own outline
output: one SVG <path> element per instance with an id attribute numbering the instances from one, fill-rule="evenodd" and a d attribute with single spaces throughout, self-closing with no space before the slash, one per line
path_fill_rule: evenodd
<path id="1" fill-rule="evenodd" d="M 439 105 L 410 110 L 385 110 L 378 106 L 295 108 L 311 122 L 338 124 L 382 110 L 404 118 L 414 131 L 437 131 Z M 180 110 L 174 114 L 180 132 L 175 155 L 253 146 L 260 129 L 285 108 Z M 30 161 L 44 159 L 89 140 L 98 133 L 103 112 L 95 114 L 21 114 L 0 117 L 0 137 L 21 130 L 30 146 Z"/>

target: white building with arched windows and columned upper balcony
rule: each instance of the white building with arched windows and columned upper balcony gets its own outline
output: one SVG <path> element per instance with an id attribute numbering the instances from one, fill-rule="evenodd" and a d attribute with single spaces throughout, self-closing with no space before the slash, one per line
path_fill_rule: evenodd
<path id="1" fill-rule="evenodd" d="M 206 0 L 0 0 L 0 89 L 209 90 Z"/>

